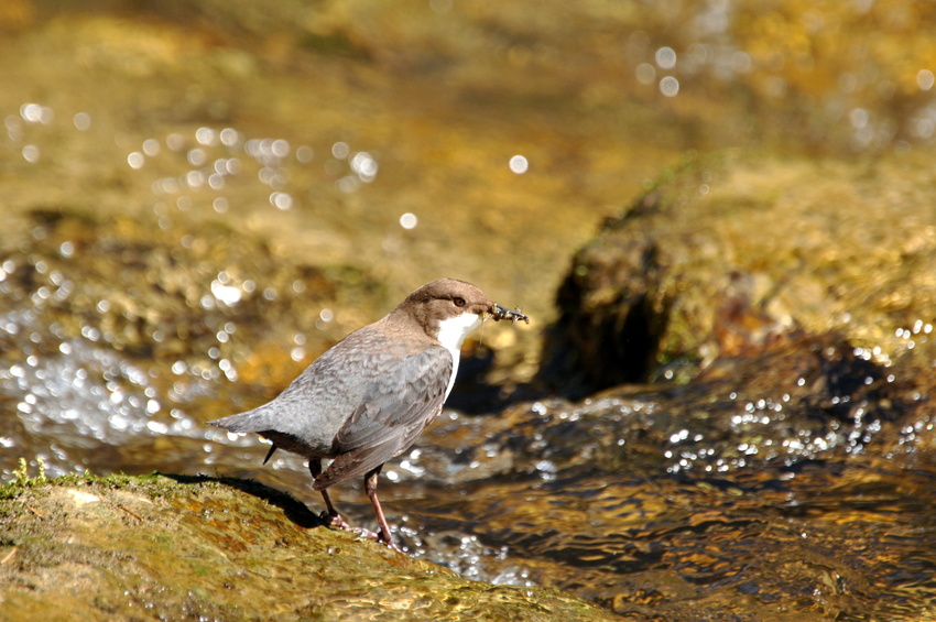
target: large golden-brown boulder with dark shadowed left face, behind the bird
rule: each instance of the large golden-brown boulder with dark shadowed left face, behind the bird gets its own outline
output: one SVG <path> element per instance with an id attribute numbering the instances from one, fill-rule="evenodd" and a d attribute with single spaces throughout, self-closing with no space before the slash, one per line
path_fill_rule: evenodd
<path id="1" fill-rule="evenodd" d="M 855 165 L 690 156 L 575 257 L 546 372 L 583 395 L 686 380 L 719 358 L 835 332 L 926 369 L 936 306 L 929 159 Z"/>

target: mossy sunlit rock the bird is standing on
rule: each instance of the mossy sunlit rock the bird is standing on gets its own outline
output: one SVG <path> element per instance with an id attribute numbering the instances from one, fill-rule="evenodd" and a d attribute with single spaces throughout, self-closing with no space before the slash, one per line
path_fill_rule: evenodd
<path id="1" fill-rule="evenodd" d="M 0 489 L 0 607 L 35 619 L 612 620 L 334 532 L 244 480 L 65 478 Z"/>

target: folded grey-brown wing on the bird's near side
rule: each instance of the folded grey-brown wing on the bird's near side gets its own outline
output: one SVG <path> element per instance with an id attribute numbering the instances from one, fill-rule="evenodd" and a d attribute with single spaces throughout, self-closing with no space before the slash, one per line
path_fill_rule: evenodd
<path id="1" fill-rule="evenodd" d="M 442 347 L 384 370 L 338 430 L 333 447 L 339 455 L 315 488 L 367 473 L 406 450 L 442 410 L 451 371 L 451 354 Z"/>

